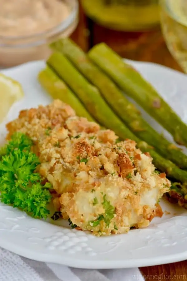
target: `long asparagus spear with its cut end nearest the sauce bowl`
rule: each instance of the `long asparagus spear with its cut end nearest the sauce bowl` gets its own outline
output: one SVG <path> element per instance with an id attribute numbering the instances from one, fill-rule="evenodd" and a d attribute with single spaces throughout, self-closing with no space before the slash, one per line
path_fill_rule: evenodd
<path id="1" fill-rule="evenodd" d="M 187 156 L 174 144 L 156 132 L 140 115 L 140 112 L 108 76 L 94 65 L 86 54 L 70 39 L 60 39 L 51 44 L 62 52 L 75 67 L 95 86 L 115 113 L 140 139 L 154 146 L 158 153 L 180 168 L 187 168 Z"/>

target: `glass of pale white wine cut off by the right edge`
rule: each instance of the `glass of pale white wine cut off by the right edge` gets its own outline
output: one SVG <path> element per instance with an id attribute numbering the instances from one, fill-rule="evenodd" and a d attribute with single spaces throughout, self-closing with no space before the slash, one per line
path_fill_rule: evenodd
<path id="1" fill-rule="evenodd" d="M 165 42 L 187 73 L 187 0 L 160 0 Z"/>

